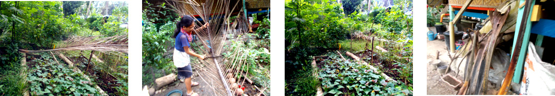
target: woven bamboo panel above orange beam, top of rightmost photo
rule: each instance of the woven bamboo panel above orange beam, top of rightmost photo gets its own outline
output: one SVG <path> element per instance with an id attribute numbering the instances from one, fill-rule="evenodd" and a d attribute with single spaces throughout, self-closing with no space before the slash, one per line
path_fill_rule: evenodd
<path id="1" fill-rule="evenodd" d="M 509 0 L 474 0 L 470 3 L 470 7 L 485 7 L 485 8 L 497 8 L 502 6 L 505 1 Z M 449 0 L 450 6 L 463 6 L 466 0 Z"/>

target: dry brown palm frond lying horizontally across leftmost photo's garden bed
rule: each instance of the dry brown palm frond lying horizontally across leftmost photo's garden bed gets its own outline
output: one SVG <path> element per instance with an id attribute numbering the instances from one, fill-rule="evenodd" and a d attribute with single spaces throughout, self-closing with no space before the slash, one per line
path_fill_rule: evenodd
<path id="1" fill-rule="evenodd" d="M 24 50 L 19 49 L 23 53 L 34 52 L 48 52 L 48 51 L 73 51 L 73 50 L 90 50 L 90 51 L 118 51 L 128 52 L 128 37 L 125 35 L 115 35 L 105 38 L 98 38 L 98 36 L 79 37 L 73 36 L 72 38 L 63 41 L 56 49 L 52 50 Z"/>

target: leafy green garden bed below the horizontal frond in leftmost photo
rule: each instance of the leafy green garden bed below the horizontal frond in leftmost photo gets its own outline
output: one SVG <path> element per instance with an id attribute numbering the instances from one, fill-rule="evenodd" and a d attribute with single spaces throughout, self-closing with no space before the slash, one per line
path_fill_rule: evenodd
<path id="1" fill-rule="evenodd" d="M 41 55 L 28 55 L 27 81 L 31 95 L 100 95 L 102 89 L 97 89 L 87 80 L 87 76 L 72 70 L 69 66 L 54 59 L 47 52 Z"/>

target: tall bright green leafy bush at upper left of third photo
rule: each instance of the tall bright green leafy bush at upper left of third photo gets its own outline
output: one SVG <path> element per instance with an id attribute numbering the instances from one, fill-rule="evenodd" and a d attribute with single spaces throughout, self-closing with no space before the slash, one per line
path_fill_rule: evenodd
<path id="1" fill-rule="evenodd" d="M 343 16 L 340 4 L 310 4 L 304 1 L 285 3 L 285 38 L 292 44 L 287 49 L 305 45 L 335 48 L 339 40 L 345 39 L 348 31 L 344 31 L 340 20 Z"/>

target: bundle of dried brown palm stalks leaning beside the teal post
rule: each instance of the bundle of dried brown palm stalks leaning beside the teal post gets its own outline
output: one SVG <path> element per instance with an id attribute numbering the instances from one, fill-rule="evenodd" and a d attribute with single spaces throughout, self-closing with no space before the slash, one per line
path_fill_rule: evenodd
<path id="1" fill-rule="evenodd" d="M 510 9 L 510 6 L 507 7 L 506 12 L 504 12 L 505 14 L 503 14 L 503 12 L 493 12 L 491 22 L 495 26 L 492 26 L 492 30 L 486 35 L 483 35 L 480 40 L 477 38 L 473 39 L 470 48 L 466 49 L 466 47 L 469 47 L 470 43 L 467 43 L 467 46 L 465 46 L 464 49 L 468 51 L 466 51 L 464 56 L 470 55 L 469 58 L 471 61 L 469 61 L 465 70 L 465 82 L 457 94 L 477 95 L 482 92 L 487 92 L 487 77 L 491 66 L 492 54 L 495 47 L 499 44 L 499 41 L 502 39 L 503 32 L 501 30 L 507 20 Z M 451 58 L 450 65 L 453 60 L 458 58 L 462 53 L 464 53 L 464 51 L 457 52 L 458 55 Z"/>

